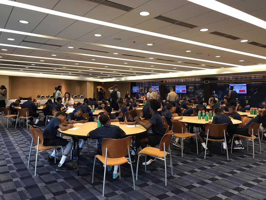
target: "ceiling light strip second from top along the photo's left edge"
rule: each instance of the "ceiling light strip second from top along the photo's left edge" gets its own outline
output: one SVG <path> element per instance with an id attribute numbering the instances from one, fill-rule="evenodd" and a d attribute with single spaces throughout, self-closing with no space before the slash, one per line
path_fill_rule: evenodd
<path id="1" fill-rule="evenodd" d="M 82 43 L 82 44 L 95 45 L 95 46 L 99 46 L 99 47 L 107 47 L 107 48 L 113 48 L 113 49 L 119 49 L 119 50 L 125 50 L 125 51 L 133 51 L 133 52 L 139 52 L 139 53 L 146 53 L 146 54 L 152 54 L 152 55 L 168 56 L 168 57 L 175 57 L 175 58 L 181 58 L 181 59 L 187 59 L 187 60 L 197 60 L 197 61 L 206 62 L 206 63 L 216 63 L 216 64 L 221 64 L 221 65 L 232 65 L 230 63 L 222 63 L 222 62 L 216 62 L 216 61 L 212 61 L 212 60 L 203 60 L 203 59 L 198 59 L 198 58 L 171 55 L 171 54 L 151 52 L 151 51 L 144 51 L 144 50 L 139 50 L 139 49 L 118 47 L 118 46 L 112 46 L 112 45 L 107 45 L 107 44 L 98 44 L 98 43 L 87 42 L 87 41 L 72 40 L 72 39 L 66 39 L 66 38 L 60 38 L 60 37 L 40 35 L 40 34 L 35 34 L 35 33 L 27 33 L 27 32 L 22 32 L 22 31 L 14 31 L 14 30 L 9 30 L 9 29 L 4 29 L 4 28 L 0 28 L 0 31 L 7 32 L 7 33 L 15 33 L 15 34 L 27 35 L 27 36 L 41 37 L 41 38 L 46 38 L 46 39 L 54 39 L 54 40 L 61 40 L 61 41 L 68 41 L 68 42 L 78 42 L 78 43 Z M 184 66 L 184 67 L 186 67 L 186 66 Z"/>

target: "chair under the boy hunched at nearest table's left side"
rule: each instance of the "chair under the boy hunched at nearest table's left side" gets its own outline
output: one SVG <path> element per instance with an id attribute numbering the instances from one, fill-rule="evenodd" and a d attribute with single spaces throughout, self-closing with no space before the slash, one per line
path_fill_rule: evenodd
<path id="1" fill-rule="evenodd" d="M 49 149 L 54 149 L 56 148 L 61 148 L 63 152 L 63 146 L 44 146 L 43 145 L 43 134 L 40 132 L 39 129 L 35 129 L 32 126 L 30 126 L 30 132 L 32 135 L 32 140 L 31 140 L 31 145 L 30 145 L 30 153 L 29 153 L 29 160 L 28 160 L 28 167 L 30 167 L 30 154 L 31 154 L 31 149 L 35 148 L 36 149 L 36 159 L 35 159 L 35 171 L 34 171 L 34 176 L 36 176 L 36 169 L 37 169 L 37 158 L 38 158 L 38 153 L 42 151 L 47 151 Z M 33 147 L 33 142 L 35 143 L 35 146 Z M 37 145 L 36 145 L 37 144 Z M 54 156 L 54 163 L 56 163 L 56 155 Z"/>

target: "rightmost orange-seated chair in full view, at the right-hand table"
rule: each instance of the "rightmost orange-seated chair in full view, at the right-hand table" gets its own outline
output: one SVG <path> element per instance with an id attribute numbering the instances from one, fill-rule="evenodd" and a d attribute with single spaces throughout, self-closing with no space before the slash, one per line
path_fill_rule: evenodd
<path id="1" fill-rule="evenodd" d="M 260 144 L 260 138 L 259 138 L 259 123 L 252 123 L 249 127 L 249 135 L 250 136 L 244 136 L 244 135 L 239 135 L 239 134 L 234 134 L 232 141 L 234 137 L 242 137 L 247 140 L 247 151 L 249 151 L 249 141 L 252 141 L 252 147 L 253 147 L 253 158 L 254 158 L 254 140 L 257 138 L 255 135 L 258 135 L 259 139 L 259 153 L 261 154 L 261 144 Z M 232 153 L 232 147 L 233 147 L 233 142 L 231 145 L 231 153 Z"/>

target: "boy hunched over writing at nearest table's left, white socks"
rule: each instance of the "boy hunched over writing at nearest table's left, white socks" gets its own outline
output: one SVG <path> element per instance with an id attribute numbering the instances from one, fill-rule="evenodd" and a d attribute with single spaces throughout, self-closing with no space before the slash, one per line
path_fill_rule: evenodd
<path id="1" fill-rule="evenodd" d="M 56 117 L 51 119 L 49 124 L 45 127 L 43 131 L 43 145 L 44 146 L 66 146 L 63 156 L 56 167 L 57 172 L 63 172 L 70 170 L 69 167 L 67 167 L 64 162 L 67 159 L 67 156 L 69 152 L 72 150 L 72 142 L 68 142 L 67 140 L 63 139 L 62 137 L 57 137 L 57 129 L 60 128 L 62 131 L 65 131 L 67 129 L 73 128 L 73 124 L 62 124 L 64 120 L 66 119 L 66 114 L 63 112 L 56 113 Z M 48 156 L 47 161 L 53 162 L 54 156 L 56 155 L 56 150 L 53 151 L 53 153 Z"/>

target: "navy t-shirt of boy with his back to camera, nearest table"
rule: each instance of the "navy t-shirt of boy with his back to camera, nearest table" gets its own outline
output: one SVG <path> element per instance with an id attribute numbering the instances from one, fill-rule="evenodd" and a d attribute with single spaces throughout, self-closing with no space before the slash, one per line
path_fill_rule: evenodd
<path id="1" fill-rule="evenodd" d="M 89 135 L 91 139 L 98 140 L 97 153 L 101 154 L 102 142 L 104 138 L 122 139 L 125 137 L 125 132 L 118 126 L 106 124 L 103 125 L 102 127 L 90 131 Z"/>

